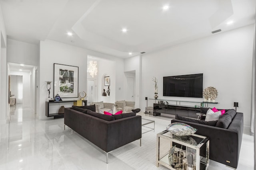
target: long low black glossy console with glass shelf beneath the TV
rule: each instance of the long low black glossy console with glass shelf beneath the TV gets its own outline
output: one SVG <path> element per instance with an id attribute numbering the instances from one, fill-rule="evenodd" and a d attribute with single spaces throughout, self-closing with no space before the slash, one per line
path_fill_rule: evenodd
<path id="1" fill-rule="evenodd" d="M 169 115 L 180 115 L 184 117 L 198 118 L 196 113 L 200 113 L 200 107 L 208 107 L 208 104 L 218 104 L 217 102 L 191 102 L 179 100 L 149 99 L 153 100 L 153 115 L 159 116 L 161 113 Z M 190 104 L 190 105 L 188 105 Z M 192 104 L 194 104 L 192 106 Z M 152 106 L 152 105 L 151 105 Z"/>

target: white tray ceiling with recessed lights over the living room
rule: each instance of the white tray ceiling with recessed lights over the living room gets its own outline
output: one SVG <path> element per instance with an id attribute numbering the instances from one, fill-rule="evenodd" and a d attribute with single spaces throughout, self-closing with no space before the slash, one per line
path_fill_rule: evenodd
<path id="1" fill-rule="evenodd" d="M 121 58 L 210 36 L 216 29 L 253 24 L 256 9 L 255 0 L 0 0 L 0 4 L 10 39 L 34 44 L 52 39 Z M 170 8 L 164 11 L 164 5 Z M 122 28 L 128 31 L 123 33 Z M 74 35 L 68 36 L 68 31 Z"/>

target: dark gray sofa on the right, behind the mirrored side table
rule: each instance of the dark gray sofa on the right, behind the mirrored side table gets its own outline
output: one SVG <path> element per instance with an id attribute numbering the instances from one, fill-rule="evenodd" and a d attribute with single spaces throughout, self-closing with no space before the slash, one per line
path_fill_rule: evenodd
<path id="1" fill-rule="evenodd" d="M 234 113 L 234 109 L 226 110 L 226 114 L 230 112 Z M 226 115 L 226 117 L 227 116 L 228 114 Z M 227 126 L 227 129 L 216 127 L 216 126 L 205 125 L 204 124 L 205 122 L 203 124 L 200 124 L 202 122 L 196 123 L 196 121 L 197 120 L 195 120 L 194 122 L 190 122 L 185 120 L 173 119 L 172 123 L 174 122 L 186 123 L 197 129 L 196 134 L 209 137 L 210 138 L 210 157 L 209 158 L 211 160 L 220 162 L 222 164 L 225 164 L 226 166 L 230 166 L 236 169 L 238 166 L 238 159 L 240 154 L 242 134 L 243 134 L 243 128 L 244 128 L 243 113 L 235 112 L 231 123 Z M 221 118 L 218 121 L 222 121 L 222 123 L 225 122 L 221 120 Z M 218 125 L 218 121 L 215 122 L 216 125 Z M 206 122 L 206 124 L 207 123 L 208 122 Z"/>

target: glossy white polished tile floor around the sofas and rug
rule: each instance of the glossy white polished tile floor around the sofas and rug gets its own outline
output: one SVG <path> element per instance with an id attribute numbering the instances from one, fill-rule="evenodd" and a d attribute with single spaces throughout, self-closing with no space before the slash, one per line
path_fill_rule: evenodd
<path id="1" fill-rule="evenodd" d="M 38 120 L 32 109 L 23 109 L 21 105 L 11 109 L 10 122 L 0 125 L 0 170 L 133 169 L 111 153 L 106 164 L 102 150 L 70 128 L 64 131 L 63 118 Z M 168 118 L 140 114 L 156 121 L 155 133 L 170 123 Z M 244 134 L 238 170 L 253 170 L 253 154 L 253 137 Z M 232 170 L 214 161 L 210 164 L 210 170 Z"/>

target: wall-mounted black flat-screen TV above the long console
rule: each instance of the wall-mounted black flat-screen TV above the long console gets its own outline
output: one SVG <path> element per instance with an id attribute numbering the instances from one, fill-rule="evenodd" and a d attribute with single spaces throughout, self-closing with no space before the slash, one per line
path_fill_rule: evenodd
<path id="1" fill-rule="evenodd" d="M 164 77 L 163 96 L 203 97 L 203 74 Z"/>

